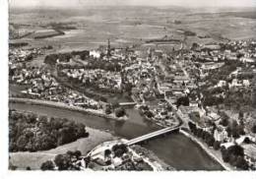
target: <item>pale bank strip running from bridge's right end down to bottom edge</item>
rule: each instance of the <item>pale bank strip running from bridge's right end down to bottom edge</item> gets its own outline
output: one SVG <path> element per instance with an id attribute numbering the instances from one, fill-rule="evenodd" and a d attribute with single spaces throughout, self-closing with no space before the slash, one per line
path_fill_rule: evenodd
<path id="1" fill-rule="evenodd" d="M 222 154 L 218 153 L 218 151 L 214 150 L 214 149 L 209 149 L 209 147 L 207 147 L 205 144 L 203 144 L 200 140 L 198 140 L 196 137 L 192 136 L 191 134 L 187 133 L 186 131 L 180 129 L 180 134 L 186 136 L 187 138 L 189 138 L 191 141 L 193 141 L 194 143 L 196 143 L 201 149 L 204 149 L 205 152 L 211 156 L 214 160 L 216 160 L 218 163 L 220 163 L 225 170 L 227 171 L 231 171 L 234 170 L 234 168 L 232 166 L 230 166 L 228 163 L 225 163 L 223 158 L 222 158 Z"/>

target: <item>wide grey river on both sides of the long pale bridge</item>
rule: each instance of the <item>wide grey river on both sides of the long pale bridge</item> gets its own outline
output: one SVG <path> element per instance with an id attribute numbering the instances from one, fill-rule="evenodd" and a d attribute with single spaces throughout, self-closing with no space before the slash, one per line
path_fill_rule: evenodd
<path id="1" fill-rule="evenodd" d="M 107 130 L 113 135 L 125 139 L 133 139 L 160 129 L 155 124 L 145 121 L 136 109 L 127 109 L 130 119 L 118 122 L 82 112 L 41 105 L 10 103 L 9 107 L 72 119 L 91 128 Z M 143 147 L 153 150 L 160 159 L 178 170 L 223 170 L 217 161 L 182 134 L 170 134 L 164 138 L 154 139 Z"/>

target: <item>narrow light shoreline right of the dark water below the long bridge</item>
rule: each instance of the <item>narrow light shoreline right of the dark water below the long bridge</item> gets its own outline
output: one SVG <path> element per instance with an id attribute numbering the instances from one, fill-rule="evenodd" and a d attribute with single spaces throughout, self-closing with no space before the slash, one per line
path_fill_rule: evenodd
<path id="1" fill-rule="evenodd" d="M 189 138 L 191 141 L 193 141 L 194 143 L 196 143 L 201 149 L 203 149 L 212 159 L 214 159 L 215 161 L 217 161 L 219 164 L 222 165 L 222 167 L 224 167 L 224 170 L 227 171 L 232 171 L 233 169 L 230 166 L 227 166 L 226 163 L 224 163 L 224 161 L 222 161 L 222 159 L 220 159 L 215 153 L 213 153 L 210 149 L 208 149 L 204 144 L 202 144 L 201 141 L 199 141 L 197 138 L 195 138 L 194 136 L 192 136 L 191 134 L 187 133 L 186 131 L 180 129 L 179 133 L 184 135 L 185 137 Z"/>

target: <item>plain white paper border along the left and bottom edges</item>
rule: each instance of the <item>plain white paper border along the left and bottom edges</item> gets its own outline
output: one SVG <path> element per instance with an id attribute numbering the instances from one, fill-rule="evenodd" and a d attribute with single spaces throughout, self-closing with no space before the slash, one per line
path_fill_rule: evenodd
<path id="1" fill-rule="evenodd" d="M 22 0 L 21 0 L 22 1 Z M 118 178 L 118 179 L 210 179 L 248 178 L 256 179 L 256 172 L 41 172 L 8 171 L 8 0 L 0 0 L 0 178 Z M 189 152 L 189 151 L 188 151 Z"/>

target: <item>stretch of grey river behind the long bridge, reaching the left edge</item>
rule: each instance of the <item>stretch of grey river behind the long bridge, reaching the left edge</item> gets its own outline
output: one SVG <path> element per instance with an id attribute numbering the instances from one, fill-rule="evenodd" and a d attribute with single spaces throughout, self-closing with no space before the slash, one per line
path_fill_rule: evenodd
<path id="1" fill-rule="evenodd" d="M 33 111 L 41 115 L 58 116 L 72 119 L 76 122 L 84 123 L 85 125 L 95 129 L 112 131 L 114 132 L 114 135 L 126 139 L 133 139 L 159 129 L 159 127 L 156 125 L 147 125 L 147 123 L 144 123 L 142 116 L 137 110 L 134 109 L 127 109 L 127 113 L 130 119 L 121 122 L 105 119 L 95 115 L 85 114 L 82 112 L 75 112 L 67 109 L 51 108 L 40 105 L 11 103 L 10 108 Z"/>

